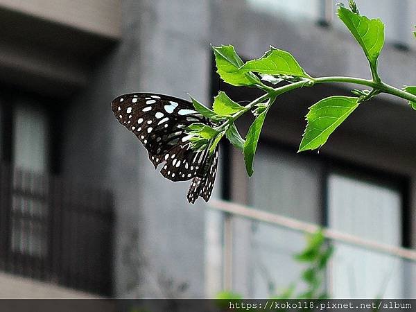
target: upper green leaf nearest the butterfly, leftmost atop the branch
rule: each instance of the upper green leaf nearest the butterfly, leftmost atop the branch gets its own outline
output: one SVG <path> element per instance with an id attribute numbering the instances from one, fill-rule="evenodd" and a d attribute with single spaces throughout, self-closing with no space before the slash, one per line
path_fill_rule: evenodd
<path id="1" fill-rule="evenodd" d="M 261 84 L 254 73 L 240 69 L 244 63 L 234 50 L 234 46 L 213 46 L 212 49 L 214 50 L 217 73 L 225 83 L 237 87 Z"/>

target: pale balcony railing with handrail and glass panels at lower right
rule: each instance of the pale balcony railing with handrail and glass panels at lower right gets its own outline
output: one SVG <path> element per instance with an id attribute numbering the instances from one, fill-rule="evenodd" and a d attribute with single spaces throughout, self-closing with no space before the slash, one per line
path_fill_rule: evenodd
<path id="1" fill-rule="evenodd" d="M 223 281 L 220 288 L 245 297 L 267 297 L 268 286 L 284 289 L 297 280 L 302 264 L 293 254 L 304 248 L 304 234 L 318 226 L 232 202 L 211 200 Z M 336 297 L 416 297 L 416 251 L 323 229 L 335 247 L 325 286 Z M 212 249 L 212 248 L 211 248 Z M 214 248 L 215 249 L 215 248 Z M 217 248 L 218 249 L 218 248 Z"/>

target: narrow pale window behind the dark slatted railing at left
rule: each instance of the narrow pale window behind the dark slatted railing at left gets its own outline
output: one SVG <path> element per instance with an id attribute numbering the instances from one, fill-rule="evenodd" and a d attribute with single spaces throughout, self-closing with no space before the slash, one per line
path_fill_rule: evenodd
<path id="1" fill-rule="evenodd" d="M 20 99 L 13 116 L 11 247 L 31 256 L 46 255 L 48 119 L 33 99 Z"/>

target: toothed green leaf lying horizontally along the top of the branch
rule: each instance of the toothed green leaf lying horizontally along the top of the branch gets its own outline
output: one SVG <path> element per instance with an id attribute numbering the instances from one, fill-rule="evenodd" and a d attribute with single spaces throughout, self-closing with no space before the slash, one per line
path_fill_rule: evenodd
<path id="1" fill-rule="evenodd" d="M 259 60 L 250 60 L 241 67 L 243 71 L 254 71 L 268 75 L 287 75 L 311 79 L 291 53 L 270 46 Z"/>

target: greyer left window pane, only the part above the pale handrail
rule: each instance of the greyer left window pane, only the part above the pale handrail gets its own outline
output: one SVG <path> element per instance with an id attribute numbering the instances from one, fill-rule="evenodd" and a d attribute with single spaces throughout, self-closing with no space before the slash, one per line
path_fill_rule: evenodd
<path id="1" fill-rule="evenodd" d="M 321 164 L 292 152 L 259 146 L 250 179 L 251 205 L 320 223 Z"/>

